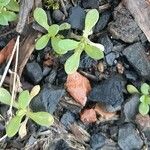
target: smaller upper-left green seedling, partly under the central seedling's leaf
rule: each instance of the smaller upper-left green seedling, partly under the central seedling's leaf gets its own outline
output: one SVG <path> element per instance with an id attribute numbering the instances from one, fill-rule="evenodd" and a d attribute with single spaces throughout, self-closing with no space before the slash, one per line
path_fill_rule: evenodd
<path id="1" fill-rule="evenodd" d="M 60 53 L 60 48 L 58 47 L 58 42 L 61 40 L 61 36 L 58 35 L 58 32 L 61 30 L 70 29 L 70 24 L 63 23 L 60 26 L 57 24 L 48 25 L 48 19 L 46 12 L 42 8 L 36 8 L 34 11 L 35 21 L 47 30 L 47 33 L 41 36 L 35 45 L 37 50 L 41 50 L 48 44 L 51 40 L 52 47 L 56 53 Z"/>

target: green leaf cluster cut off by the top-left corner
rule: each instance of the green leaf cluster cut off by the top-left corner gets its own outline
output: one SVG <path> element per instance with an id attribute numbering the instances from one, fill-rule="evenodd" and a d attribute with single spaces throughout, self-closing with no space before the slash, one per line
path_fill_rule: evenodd
<path id="1" fill-rule="evenodd" d="M 0 0 L 0 25 L 8 25 L 8 22 L 17 19 L 19 5 L 16 0 Z"/>

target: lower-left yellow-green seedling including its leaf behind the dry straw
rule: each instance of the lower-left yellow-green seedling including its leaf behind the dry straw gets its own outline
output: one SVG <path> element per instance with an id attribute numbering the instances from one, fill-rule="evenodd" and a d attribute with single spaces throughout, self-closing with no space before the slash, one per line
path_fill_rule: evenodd
<path id="1" fill-rule="evenodd" d="M 13 107 L 15 107 L 17 111 L 6 126 L 6 134 L 8 137 L 13 137 L 18 131 L 20 136 L 24 136 L 26 134 L 24 132 L 26 131 L 28 118 L 41 126 L 48 127 L 53 124 L 54 119 L 51 114 L 47 112 L 32 112 L 29 108 L 31 100 L 39 93 L 39 91 L 40 86 L 37 85 L 30 93 L 27 90 L 21 92 L 18 96 L 18 100 L 14 101 Z M 7 105 L 11 104 L 11 95 L 4 88 L 0 88 L 0 102 Z"/>

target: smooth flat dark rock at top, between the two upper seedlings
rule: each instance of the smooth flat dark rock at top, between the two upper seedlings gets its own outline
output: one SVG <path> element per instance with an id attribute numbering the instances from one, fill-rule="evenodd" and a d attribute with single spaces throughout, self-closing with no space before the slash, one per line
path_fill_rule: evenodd
<path id="1" fill-rule="evenodd" d="M 72 7 L 69 10 L 68 23 L 71 24 L 73 29 L 83 30 L 84 29 L 85 12 L 79 7 Z"/>

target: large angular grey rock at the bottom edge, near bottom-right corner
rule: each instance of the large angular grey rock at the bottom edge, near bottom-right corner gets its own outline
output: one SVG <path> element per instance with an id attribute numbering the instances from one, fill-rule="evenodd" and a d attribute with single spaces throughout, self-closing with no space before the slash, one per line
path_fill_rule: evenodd
<path id="1" fill-rule="evenodd" d="M 118 144 L 122 150 L 141 150 L 143 141 L 133 124 L 125 124 L 120 127 Z"/>

